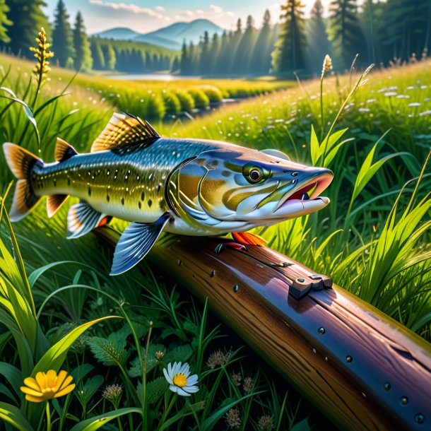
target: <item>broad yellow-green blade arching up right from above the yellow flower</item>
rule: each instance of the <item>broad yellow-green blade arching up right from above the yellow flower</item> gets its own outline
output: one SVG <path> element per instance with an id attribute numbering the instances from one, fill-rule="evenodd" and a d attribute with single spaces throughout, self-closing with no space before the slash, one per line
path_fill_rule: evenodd
<path id="1" fill-rule="evenodd" d="M 61 338 L 60 341 L 55 343 L 52 348 L 49 348 L 47 353 L 45 353 L 45 355 L 42 356 L 40 361 L 37 362 L 32 373 L 33 377 L 39 371 L 47 372 L 48 370 L 55 370 L 58 372 L 64 360 L 66 359 L 66 355 L 69 348 L 78 339 L 78 337 L 80 337 L 88 328 L 90 328 L 94 324 L 97 324 L 100 321 L 104 321 L 106 319 L 114 318 L 119 319 L 119 317 L 117 316 L 101 317 L 100 319 L 89 321 L 86 324 L 82 324 L 75 329 L 72 329 L 72 331 L 70 331 L 68 334 L 66 334 L 66 336 Z"/>

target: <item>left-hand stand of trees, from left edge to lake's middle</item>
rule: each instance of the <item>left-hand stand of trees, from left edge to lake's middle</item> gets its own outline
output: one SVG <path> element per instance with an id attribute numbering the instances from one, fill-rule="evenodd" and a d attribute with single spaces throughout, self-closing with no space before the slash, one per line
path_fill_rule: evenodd
<path id="1" fill-rule="evenodd" d="M 31 58 L 29 47 L 35 43 L 37 30 L 44 27 L 52 34 L 54 59 L 61 67 L 128 73 L 166 71 L 171 67 L 175 52 L 169 49 L 140 42 L 89 38 L 81 12 L 76 14 L 72 27 L 63 0 L 57 3 L 51 26 L 43 6 L 46 4 L 42 0 L 0 0 L 0 45 L 6 52 Z"/>

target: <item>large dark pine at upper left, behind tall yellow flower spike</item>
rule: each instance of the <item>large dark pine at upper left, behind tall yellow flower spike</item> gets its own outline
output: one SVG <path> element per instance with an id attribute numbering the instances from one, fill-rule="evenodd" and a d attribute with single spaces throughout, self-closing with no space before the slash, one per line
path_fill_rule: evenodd
<path id="1" fill-rule="evenodd" d="M 43 27 L 50 33 L 47 17 L 42 12 L 42 7 L 47 5 L 43 0 L 7 0 L 7 5 L 8 20 L 13 23 L 8 28 L 11 52 L 33 58 L 29 47 L 34 45 L 37 32 Z"/>

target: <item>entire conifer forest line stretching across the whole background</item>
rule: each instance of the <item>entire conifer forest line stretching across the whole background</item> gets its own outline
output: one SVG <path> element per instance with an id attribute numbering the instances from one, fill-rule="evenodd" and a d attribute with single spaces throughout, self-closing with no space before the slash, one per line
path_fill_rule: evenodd
<path id="1" fill-rule="evenodd" d="M 265 11 L 256 28 L 248 16 L 243 28 L 222 35 L 205 32 L 198 44 L 184 40 L 181 52 L 140 42 L 105 40 L 85 34 L 81 13 L 73 28 L 59 0 L 52 31 L 42 11 L 43 0 L 0 0 L 0 44 L 4 50 L 31 57 L 29 47 L 40 27 L 52 34 L 59 66 L 82 71 L 129 73 L 170 70 L 183 75 L 316 74 L 331 54 L 336 69 L 348 69 L 355 54 L 360 64 L 388 64 L 427 57 L 431 49 L 431 0 L 331 0 L 324 16 L 316 0 L 309 18 L 301 0 L 286 0 L 281 23 L 271 24 Z"/>

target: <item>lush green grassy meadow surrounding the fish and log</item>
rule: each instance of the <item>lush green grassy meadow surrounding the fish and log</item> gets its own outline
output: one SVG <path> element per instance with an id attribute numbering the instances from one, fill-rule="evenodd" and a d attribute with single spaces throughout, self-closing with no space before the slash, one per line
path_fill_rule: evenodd
<path id="1" fill-rule="evenodd" d="M 165 112 L 170 105 L 172 112 L 187 110 L 187 102 L 181 100 L 177 109 L 173 95 L 187 93 L 189 103 L 199 106 L 201 93 L 208 98 L 202 81 L 166 87 L 78 75 L 69 85 L 71 74 L 53 70 L 36 98 L 32 64 L 5 56 L 0 64 L 1 87 L 9 89 L 1 93 L 7 98 L 0 101 L 0 140 L 39 151 L 46 161 L 53 160 L 57 136 L 87 151 L 112 111 L 126 110 L 153 118 L 163 136 L 278 148 L 293 160 L 329 167 L 335 179 L 328 207 L 257 232 L 274 249 L 331 275 L 431 339 L 429 59 L 362 78 L 359 71 L 328 76 L 322 98 L 319 80 L 208 81 L 217 90 L 207 92 L 218 98 L 257 97 L 176 122 L 163 122 Z M 149 100 L 157 100 L 157 109 Z M 2 154 L 0 166 L 4 195 L 13 177 Z M 6 323 L 0 334 L 0 385 L 1 402 L 8 407 L 0 407 L 13 412 L 16 423 L 28 420 L 32 429 L 44 429 L 38 405 L 23 401 L 20 382 L 35 364 L 47 370 L 62 363 L 77 389 L 66 401 L 52 403 L 54 429 L 70 430 L 79 420 L 92 423 L 108 411 L 112 430 L 164 430 L 172 424 L 172 429 L 260 431 L 332 426 L 169 276 L 146 262 L 119 278 L 107 276 L 109 251 L 90 235 L 64 239 L 66 209 L 47 220 L 40 205 L 13 230 L 3 209 L 0 315 Z M 95 321 L 109 315 L 124 319 Z M 95 321 L 91 327 L 78 326 L 89 321 Z M 49 350 L 60 339 L 61 352 Z M 199 392 L 191 400 L 166 391 L 162 370 L 175 360 L 189 362 L 199 376 Z"/>

